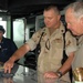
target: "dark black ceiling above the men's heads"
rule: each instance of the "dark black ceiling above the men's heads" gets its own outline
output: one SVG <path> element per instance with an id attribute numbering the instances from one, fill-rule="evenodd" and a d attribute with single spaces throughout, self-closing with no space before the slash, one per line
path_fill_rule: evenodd
<path id="1" fill-rule="evenodd" d="M 0 0 L 1 12 L 14 17 L 41 13 L 45 6 L 56 4 L 60 10 L 76 0 Z"/>

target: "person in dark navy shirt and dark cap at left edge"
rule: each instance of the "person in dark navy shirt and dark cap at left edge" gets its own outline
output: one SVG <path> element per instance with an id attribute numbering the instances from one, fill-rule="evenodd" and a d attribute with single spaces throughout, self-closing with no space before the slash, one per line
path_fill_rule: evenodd
<path id="1" fill-rule="evenodd" d="M 6 33 L 6 30 L 3 29 L 3 25 L 0 25 L 0 65 L 1 66 L 3 66 L 3 64 L 18 50 L 18 46 L 15 45 L 15 43 L 11 39 L 6 38 L 3 35 L 4 33 Z M 14 66 L 14 68 L 15 70 L 12 70 L 13 74 L 18 70 L 18 66 Z"/>

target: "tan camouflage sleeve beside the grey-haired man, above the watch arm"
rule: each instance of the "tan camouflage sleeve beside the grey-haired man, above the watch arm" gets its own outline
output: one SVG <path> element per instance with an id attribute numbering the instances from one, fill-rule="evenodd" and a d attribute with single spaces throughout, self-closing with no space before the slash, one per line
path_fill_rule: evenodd
<path id="1" fill-rule="evenodd" d="M 76 39 L 68 31 L 65 34 L 65 53 L 70 55 L 74 51 L 76 51 Z"/>

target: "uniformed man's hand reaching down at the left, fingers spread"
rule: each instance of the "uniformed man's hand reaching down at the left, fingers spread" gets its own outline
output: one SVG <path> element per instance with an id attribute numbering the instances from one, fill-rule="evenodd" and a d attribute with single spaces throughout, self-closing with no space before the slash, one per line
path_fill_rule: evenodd
<path id="1" fill-rule="evenodd" d="M 14 62 L 11 60 L 7 61 L 3 65 L 4 73 L 11 73 L 11 69 L 13 68 Z"/>

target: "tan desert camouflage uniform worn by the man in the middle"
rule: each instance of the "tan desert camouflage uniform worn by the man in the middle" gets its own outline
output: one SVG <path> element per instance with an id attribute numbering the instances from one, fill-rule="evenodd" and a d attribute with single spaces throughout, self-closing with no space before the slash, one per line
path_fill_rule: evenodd
<path id="1" fill-rule="evenodd" d="M 63 33 L 65 32 L 64 25 L 61 23 L 60 28 L 58 28 L 51 35 L 48 28 L 43 28 L 39 31 L 37 31 L 33 37 L 28 41 L 28 44 L 30 45 L 31 50 L 35 49 L 39 39 L 42 35 L 41 39 L 41 52 L 38 59 L 38 82 L 44 83 L 43 81 L 43 73 L 48 71 L 54 71 L 56 72 L 58 69 L 62 66 L 61 60 L 63 58 Z M 70 32 L 66 32 L 66 46 L 65 51 L 69 55 L 70 52 L 73 52 L 76 50 L 76 41 L 71 35 Z M 66 65 L 68 66 L 68 65 Z M 70 81 L 69 73 L 63 75 L 61 77 L 64 81 Z"/>

